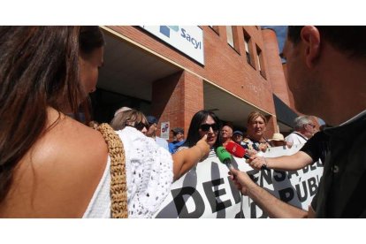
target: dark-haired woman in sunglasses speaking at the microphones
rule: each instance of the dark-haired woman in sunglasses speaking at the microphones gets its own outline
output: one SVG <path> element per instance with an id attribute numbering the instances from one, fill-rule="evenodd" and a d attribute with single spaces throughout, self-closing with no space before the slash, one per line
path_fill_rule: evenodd
<path id="1" fill-rule="evenodd" d="M 221 127 L 220 119 L 212 111 L 198 111 L 194 114 L 189 125 L 187 140 L 178 149 L 189 149 L 193 147 L 197 141 L 207 135 L 207 143 L 210 145 L 210 156 L 216 156 L 215 149 L 220 146 L 218 132 Z"/>

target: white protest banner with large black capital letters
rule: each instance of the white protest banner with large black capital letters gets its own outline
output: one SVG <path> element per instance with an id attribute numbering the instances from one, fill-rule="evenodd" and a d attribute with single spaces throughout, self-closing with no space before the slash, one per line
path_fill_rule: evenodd
<path id="1" fill-rule="evenodd" d="M 264 156 L 292 155 L 301 147 L 271 148 Z M 271 194 L 303 210 L 308 210 L 323 175 L 323 165 L 318 162 L 297 172 L 256 171 L 245 163 L 245 159 L 237 157 L 233 157 L 233 166 L 248 172 L 258 185 Z M 228 178 L 228 172 L 216 156 L 197 164 L 174 182 L 171 194 L 155 217 L 268 217 L 248 196 L 241 196 Z"/>

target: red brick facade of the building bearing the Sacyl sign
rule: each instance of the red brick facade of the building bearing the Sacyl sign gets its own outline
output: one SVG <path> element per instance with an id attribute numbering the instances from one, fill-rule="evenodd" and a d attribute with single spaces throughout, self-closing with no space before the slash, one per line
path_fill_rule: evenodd
<path id="1" fill-rule="evenodd" d="M 254 26 L 233 27 L 232 47 L 227 42 L 225 26 L 203 26 L 205 64 L 200 65 L 140 27 L 106 28 L 182 69 L 181 72 L 156 80 L 152 84 L 152 114 L 160 117 L 160 122 L 169 121 L 171 127 L 184 127 L 187 133 L 194 113 L 204 109 L 204 82 L 215 84 L 269 115 L 270 122 L 265 134 L 267 137 L 271 137 L 277 130 L 276 117 L 273 117 L 276 111 L 272 94 L 277 94 L 293 107 L 293 98 L 288 95 L 285 75 L 278 57 L 278 42 L 271 30 Z M 248 44 L 252 65 L 247 61 L 244 35 L 250 36 Z M 259 70 L 257 51 L 262 52 L 262 72 Z M 243 125 L 245 123 L 246 120 Z"/>

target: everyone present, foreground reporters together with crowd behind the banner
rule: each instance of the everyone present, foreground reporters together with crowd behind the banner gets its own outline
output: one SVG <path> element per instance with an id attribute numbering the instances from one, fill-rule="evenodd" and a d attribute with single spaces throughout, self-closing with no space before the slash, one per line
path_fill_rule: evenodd
<path id="1" fill-rule="evenodd" d="M 230 170 L 241 193 L 270 217 L 366 217 L 363 41 L 365 27 L 288 27 L 283 57 L 289 86 L 299 111 L 332 125 L 319 133 L 301 116 L 294 133 L 267 139 L 268 121 L 259 111 L 248 115 L 243 133 L 202 110 L 186 138 L 182 128 L 173 128 L 168 143 L 156 135 L 158 118 L 133 108 L 116 111 L 110 124 L 126 164 L 127 216 L 153 217 L 174 180 L 234 141 L 247 149 L 255 169 L 324 162 L 309 211 L 281 202 L 246 172 Z M 97 123 L 89 124 L 88 106 L 103 46 L 99 27 L 0 27 L 0 217 L 111 217 L 111 150 Z M 81 107 L 86 123 L 78 121 Z M 305 145 L 293 156 L 259 153 L 297 143 Z"/>

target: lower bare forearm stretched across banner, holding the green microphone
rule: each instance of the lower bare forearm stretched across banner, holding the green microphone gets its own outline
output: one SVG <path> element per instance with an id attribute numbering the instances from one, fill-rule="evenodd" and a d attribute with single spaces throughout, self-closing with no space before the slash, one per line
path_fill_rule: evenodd
<path id="1" fill-rule="evenodd" d="M 308 212 L 280 201 L 253 182 L 246 172 L 231 170 L 230 178 L 242 194 L 248 195 L 269 217 L 308 217 Z"/>

